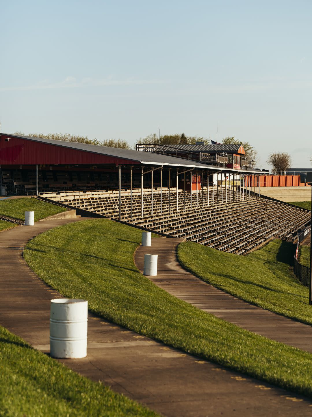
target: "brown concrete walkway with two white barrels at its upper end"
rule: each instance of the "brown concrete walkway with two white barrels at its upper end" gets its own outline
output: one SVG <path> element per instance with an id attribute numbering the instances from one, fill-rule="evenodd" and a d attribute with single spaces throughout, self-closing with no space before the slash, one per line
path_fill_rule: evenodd
<path id="1" fill-rule="evenodd" d="M 151 247 L 136 251 L 136 265 L 143 272 L 144 253 L 158 254 L 157 276 L 149 279 L 170 294 L 251 332 L 312 352 L 312 326 L 249 304 L 183 269 L 176 257 L 183 240 L 152 239 Z"/>

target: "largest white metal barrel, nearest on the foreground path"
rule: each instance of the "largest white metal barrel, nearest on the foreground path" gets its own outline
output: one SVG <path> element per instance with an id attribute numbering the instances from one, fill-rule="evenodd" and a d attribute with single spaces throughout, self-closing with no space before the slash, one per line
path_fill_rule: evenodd
<path id="1" fill-rule="evenodd" d="M 88 301 L 60 298 L 51 300 L 50 356 L 87 356 Z"/>

